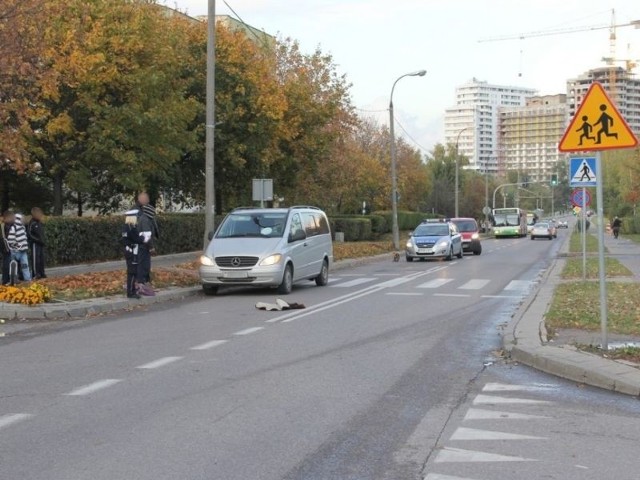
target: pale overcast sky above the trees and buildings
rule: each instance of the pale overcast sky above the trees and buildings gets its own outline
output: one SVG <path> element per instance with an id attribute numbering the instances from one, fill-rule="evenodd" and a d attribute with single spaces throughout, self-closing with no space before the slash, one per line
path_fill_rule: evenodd
<path id="1" fill-rule="evenodd" d="M 162 2 L 162 0 L 159 0 Z M 426 69 L 396 87 L 398 134 L 427 153 L 444 141 L 444 110 L 455 87 L 472 78 L 565 93 L 566 80 L 604 66 L 609 30 L 479 42 L 548 29 L 606 26 L 640 20 L 638 0 L 226 0 L 242 20 L 330 53 L 352 83 L 363 116 L 388 122 L 386 108 L 400 75 Z M 190 15 L 206 15 L 208 0 L 168 0 Z M 233 15 L 224 0 L 216 13 Z M 640 59 L 640 29 L 616 30 L 618 59 Z M 620 63 L 620 65 L 623 65 Z M 404 130 L 404 132 L 402 131 Z"/>

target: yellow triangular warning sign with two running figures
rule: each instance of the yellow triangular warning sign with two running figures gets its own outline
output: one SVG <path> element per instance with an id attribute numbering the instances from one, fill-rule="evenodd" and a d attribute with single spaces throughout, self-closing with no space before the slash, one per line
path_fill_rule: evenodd
<path id="1" fill-rule="evenodd" d="M 607 92 L 593 82 L 560 140 L 561 152 L 589 152 L 630 148 L 638 139 Z"/>

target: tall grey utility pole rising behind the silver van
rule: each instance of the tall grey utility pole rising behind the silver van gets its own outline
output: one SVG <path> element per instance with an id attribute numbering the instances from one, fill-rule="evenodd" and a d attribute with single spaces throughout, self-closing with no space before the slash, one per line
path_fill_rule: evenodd
<path id="1" fill-rule="evenodd" d="M 216 0 L 209 0 L 207 15 L 207 104 L 205 139 L 205 229 L 204 248 L 209 243 L 209 233 L 216 225 L 216 192 L 214 178 L 215 96 L 216 96 Z"/>

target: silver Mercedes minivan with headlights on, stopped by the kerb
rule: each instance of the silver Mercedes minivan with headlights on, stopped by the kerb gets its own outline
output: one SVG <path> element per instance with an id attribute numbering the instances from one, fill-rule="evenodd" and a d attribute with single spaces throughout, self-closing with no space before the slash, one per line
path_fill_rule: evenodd
<path id="1" fill-rule="evenodd" d="M 225 285 L 288 294 L 301 280 L 326 285 L 332 263 L 329 221 L 319 208 L 237 208 L 200 257 L 200 280 L 207 295 Z"/>

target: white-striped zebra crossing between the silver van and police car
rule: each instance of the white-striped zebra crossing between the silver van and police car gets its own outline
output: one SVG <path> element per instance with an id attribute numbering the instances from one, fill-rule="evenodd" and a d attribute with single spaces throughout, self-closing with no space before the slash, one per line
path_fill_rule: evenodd
<path id="1" fill-rule="evenodd" d="M 374 286 L 380 282 L 389 282 L 389 277 L 382 276 L 335 276 L 329 286 L 336 289 Z M 506 285 L 502 280 L 487 278 L 451 278 L 440 277 L 427 281 L 418 280 L 404 284 L 402 291 L 388 291 L 386 295 L 396 296 L 444 296 L 483 298 L 514 298 L 527 295 L 536 280 L 511 280 Z M 488 292 L 497 292 L 488 294 Z"/>

